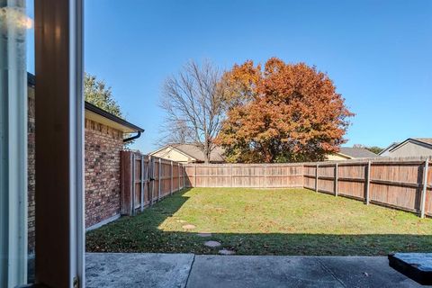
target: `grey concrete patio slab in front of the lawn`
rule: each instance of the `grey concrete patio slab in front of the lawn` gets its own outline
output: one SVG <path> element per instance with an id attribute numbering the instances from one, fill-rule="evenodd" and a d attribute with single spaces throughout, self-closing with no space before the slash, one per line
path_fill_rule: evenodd
<path id="1" fill-rule="evenodd" d="M 86 287 L 425 287 L 387 257 L 89 253 Z"/>

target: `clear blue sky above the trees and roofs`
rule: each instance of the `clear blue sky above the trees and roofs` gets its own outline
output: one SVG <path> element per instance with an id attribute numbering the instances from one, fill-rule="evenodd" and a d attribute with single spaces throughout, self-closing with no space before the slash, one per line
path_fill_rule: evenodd
<path id="1" fill-rule="evenodd" d="M 157 147 L 160 88 L 189 59 L 303 61 L 327 72 L 356 116 L 353 144 L 432 137 L 432 1 L 85 0 L 85 70 L 112 86 Z"/>

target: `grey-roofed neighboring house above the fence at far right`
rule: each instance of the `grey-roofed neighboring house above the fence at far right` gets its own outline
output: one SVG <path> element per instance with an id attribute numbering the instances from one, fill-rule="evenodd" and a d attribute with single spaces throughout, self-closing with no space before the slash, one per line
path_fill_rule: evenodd
<path id="1" fill-rule="evenodd" d="M 380 152 L 383 157 L 432 157 L 432 138 L 409 138 Z"/>

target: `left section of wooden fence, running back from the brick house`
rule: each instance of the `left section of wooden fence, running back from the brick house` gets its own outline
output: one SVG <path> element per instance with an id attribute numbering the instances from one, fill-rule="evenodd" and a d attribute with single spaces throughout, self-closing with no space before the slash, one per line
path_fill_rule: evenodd
<path id="1" fill-rule="evenodd" d="M 148 205 L 184 188 L 180 163 L 121 151 L 121 214 L 134 215 Z"/>

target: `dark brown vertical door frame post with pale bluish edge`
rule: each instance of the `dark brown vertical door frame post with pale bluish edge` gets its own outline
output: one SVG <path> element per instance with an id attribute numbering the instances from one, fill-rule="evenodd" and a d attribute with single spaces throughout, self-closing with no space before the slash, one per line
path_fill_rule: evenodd
<path id="1" fill-rule="evenodd" d="M 36 0 L 35 283 L 85 287 L 83 0 Z"/>

